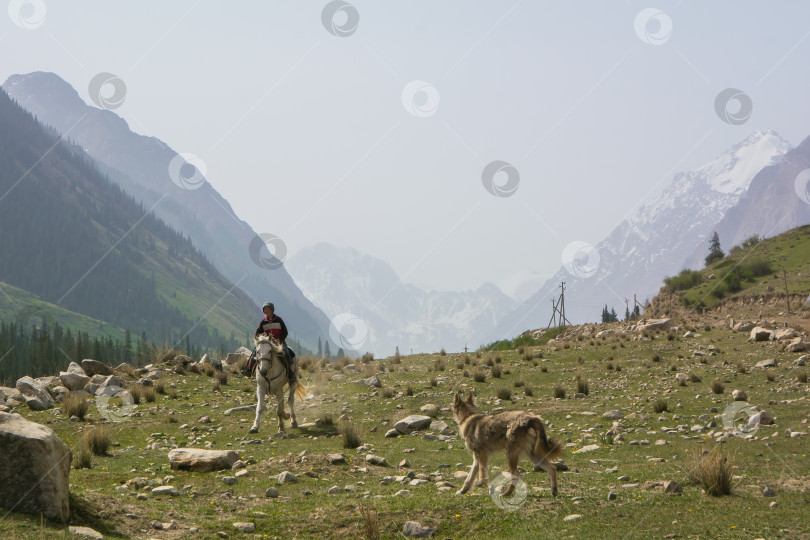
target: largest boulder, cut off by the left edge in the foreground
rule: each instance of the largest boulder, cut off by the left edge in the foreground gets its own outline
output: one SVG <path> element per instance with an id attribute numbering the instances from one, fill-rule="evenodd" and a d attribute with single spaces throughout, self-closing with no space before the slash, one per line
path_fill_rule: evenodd
<path id="1" fill-rule="evenodd" d="M 66 521 L 73 455 L 49 427 L 0 413 L 0 507 Z"/>

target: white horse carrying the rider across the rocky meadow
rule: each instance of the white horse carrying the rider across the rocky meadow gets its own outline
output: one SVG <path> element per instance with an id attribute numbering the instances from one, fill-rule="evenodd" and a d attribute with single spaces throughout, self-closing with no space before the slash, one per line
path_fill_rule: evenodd
<path id="1" fill-rule="evenodd" d="M 287 379 L 287 368 L 284 365 L 284 346 L 268 336 L 259 336 L 256 338 L 256 420 L 253 421 L 253 427 L 250 428 L 248 433 L 258 433 L 261 414 L 267 407 L 264 406 L 264 400 L 268 393 L 276 395 L 278 402 L 278 431 L 284 433 L 284 420 L 289 419 L 290 415 L 284 410 L 284 386 L 289 384 Z M 293 372 L 298 378 L 298 359 L 293 362 Z M 303 400 L 307 395 L 307 389 L 300 382 L 294 382 L 290 385 L 290 397 L 287 400 L 290 405 L 290 413 L 292 414 L 292 427 L 298 427 L 298 420 L 295 418 L 295 396 Z"/>

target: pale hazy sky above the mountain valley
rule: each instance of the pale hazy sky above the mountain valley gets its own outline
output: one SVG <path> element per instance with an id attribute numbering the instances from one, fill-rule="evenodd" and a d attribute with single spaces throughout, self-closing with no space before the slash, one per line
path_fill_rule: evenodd
<path id="1" fill-rule="evenodd" d="M 751 132 L 810 134 L 808 36 L 794 1 L 14 0 L 0 78 L 52 71 L 92 103 L 116 75 L 115 112 L 290 254 L 511 287 Z"/>

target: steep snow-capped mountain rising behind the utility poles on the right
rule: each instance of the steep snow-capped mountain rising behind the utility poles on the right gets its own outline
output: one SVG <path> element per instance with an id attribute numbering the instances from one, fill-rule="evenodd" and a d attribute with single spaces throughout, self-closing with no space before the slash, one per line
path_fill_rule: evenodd
<path id="1" fill-rule="evenodd" d="M 696 248 L 708 245 L 714 228 L 754 177 L 789 150 L 776 132 L 758 131 L 702 167 L 676 174 L 659 197 L 640 206 L 598 245 L 580 243 L 564 252 L 564 266 L 505 316 L 488 340 L 548 324 L 550 301 L 559 296 L 561 281 L 566 282 L 566 318 L 576 324 L 600 320 L 606 304 L 621 317 L 625 298 L 632 310 L 633 295 L 644 302 L 658 292 L 665 276 L 702 267 L 702 257 L 699 264 L 694 261 Z"/>

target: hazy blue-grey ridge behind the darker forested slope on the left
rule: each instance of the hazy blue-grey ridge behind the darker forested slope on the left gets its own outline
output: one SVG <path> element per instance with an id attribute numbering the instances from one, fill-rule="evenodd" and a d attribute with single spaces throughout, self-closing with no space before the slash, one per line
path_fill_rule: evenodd
<path id="1" fill-rule="evenodd" d="M 187 235 L 222 273 L 238 282 L 256 304 L 276 303 L 290 332 L 310 346 L 328 335 L 329 321 L 307 300 L 283 267 L 257 264 L 257 234 L 239 220 L 231 206 L 207 182 L 198 189 L 182 189 L 169 176 L 178 155 L 154 137 L 133 133 L 116 114 L 90 107 L 64 80 L 51 73 L 9 77 L 3 88 L 40 121 L 71 140 L 108 169 L 112 181 L 141 201 L 176 230 Z M 262 231 L 267 232 L 267 231 Z M 254 253 L 251 253 L 253 248 Z M 277 260 L 274 262 L 278 262 Z M 257 308 L 248 310 L 251 317 Z M 255 326 L 255 321 L 253 323 Z"/>

